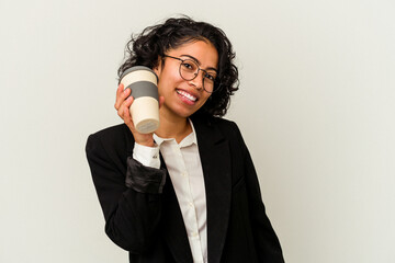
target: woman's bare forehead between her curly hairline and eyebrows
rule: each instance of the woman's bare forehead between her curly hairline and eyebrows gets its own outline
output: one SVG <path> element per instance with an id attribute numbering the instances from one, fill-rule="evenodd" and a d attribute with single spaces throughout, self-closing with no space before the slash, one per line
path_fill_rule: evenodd
<path id="1" fill-rule="evenodd" d="M 211 42 L 193 41 L 188 42 L 174 49 L 169 50 L 168 55 L 182 57 L 190 56 L 198 60 L 202 68 L 217 68 L 218 52 Z"/>

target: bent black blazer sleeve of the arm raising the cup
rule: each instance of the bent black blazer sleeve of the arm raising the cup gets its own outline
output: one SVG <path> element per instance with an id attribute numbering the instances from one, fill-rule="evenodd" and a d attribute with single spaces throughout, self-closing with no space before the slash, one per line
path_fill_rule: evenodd
<path id="1" fill-rule="evenodd" d="M 121 248 L 145 253 L 160 221 L 166 170 L 144 167 L 132 158 L 122 160 L 104 141 L 98 134 L 89 136 L 86 152 L 105 232 Z"/>

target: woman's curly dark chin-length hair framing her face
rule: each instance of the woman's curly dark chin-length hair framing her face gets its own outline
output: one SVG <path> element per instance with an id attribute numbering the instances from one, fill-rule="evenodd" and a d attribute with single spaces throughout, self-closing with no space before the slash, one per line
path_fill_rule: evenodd
<path id="1" fill-rule="evenodd" d="M 132 35 L 125 48 L 125 61 L 119 77 L 133 66 L 154 69 L 169 49 L 193 41 L 208 41 L 218 52 L 218 79 L 214 92 L 195 114 L 224 116 L 230 104 L 230 95 L 238 90 L 238 70 L 234 65 L 235 53 L 225 33 L 212 24 L 196 22 L 188 16 L 171 18 L 162 24 L 146 27 L 140 34 Z"/>

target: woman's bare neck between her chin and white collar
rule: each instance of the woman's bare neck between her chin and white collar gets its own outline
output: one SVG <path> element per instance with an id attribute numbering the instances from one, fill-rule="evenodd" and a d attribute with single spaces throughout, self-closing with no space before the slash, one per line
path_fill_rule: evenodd
<path id="1" fill-rule="evenodd" d="M 187 117 L 170 117 L 166 113 L 159 112 L 160 124 L 155 134 L 161 138 L 174 138 L 179 144 L 183 138 L 192 133 L 192 127 Z"/>

